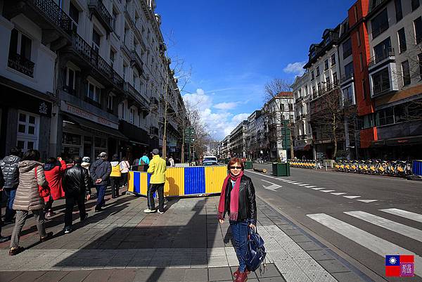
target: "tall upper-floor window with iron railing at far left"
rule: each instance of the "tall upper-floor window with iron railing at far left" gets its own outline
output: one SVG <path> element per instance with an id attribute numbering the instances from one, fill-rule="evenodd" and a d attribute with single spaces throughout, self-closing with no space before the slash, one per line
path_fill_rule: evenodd
<path id="1" fill-rule="evenodd" d="M 34 77 L 34 63 L 31 61 L 32 40 L 15 28 L 11 32 L 8 67 Z"/>

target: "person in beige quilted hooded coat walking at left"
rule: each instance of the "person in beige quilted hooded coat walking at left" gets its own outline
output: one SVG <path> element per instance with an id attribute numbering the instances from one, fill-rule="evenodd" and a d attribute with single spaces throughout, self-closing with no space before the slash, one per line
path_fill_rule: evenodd
<path id="1" fill-rule="evenodd" d="M 41 188 L 49 186 L 43 164 L 39 162 L 39 151 L 27 150 L 22 161 L 19 162 L 19 185 L 13 202 L 13 210 L 16 210 L 16 222 L 9 255 L 17 255 L 25 250 L 19 246 L 19 237 L 30 211 L 35 217 L 40 241 L 44 242 L 53 236 L 53 232 L 46 233 L 44 228 L 44 199 L 39 194 L 39 186 Z"/>

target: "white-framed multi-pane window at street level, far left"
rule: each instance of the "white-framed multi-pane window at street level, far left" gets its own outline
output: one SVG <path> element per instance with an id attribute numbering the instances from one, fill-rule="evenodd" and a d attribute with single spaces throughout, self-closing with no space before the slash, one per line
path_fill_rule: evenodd
<path id="1" fill-rule="evenodd" d="M 38 136 L 39 116 L 19 111 L 16 146 L 24 152 L 30 149 L 38 149 Z"/>

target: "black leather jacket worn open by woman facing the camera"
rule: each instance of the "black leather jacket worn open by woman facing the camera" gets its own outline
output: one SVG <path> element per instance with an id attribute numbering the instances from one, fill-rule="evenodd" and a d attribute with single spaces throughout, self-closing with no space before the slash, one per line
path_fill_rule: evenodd
<path id="1" fill-rule="evenodd" d="M 224 214 L 230 210 L 230 191 L 231 181 L 229 179 L 226 187 L 226 203 L 224 207 Z M 223 217 L 224 217 L 223 214 Z M 248 220 L 249 223 L 257 224 L 257 203 L 255 200 L 255 187 L 252 180 L 243 175 L 241 184 L 239 186 L 239 210 L 238 221 Z"/>

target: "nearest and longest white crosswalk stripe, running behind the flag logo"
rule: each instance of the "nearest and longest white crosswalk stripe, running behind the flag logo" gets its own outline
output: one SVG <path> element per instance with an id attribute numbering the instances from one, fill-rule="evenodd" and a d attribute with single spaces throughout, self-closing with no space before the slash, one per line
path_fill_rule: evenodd
<path id="1" fill-rule="evenodd" d="M 307 217 L 314 219 L 316 222 L 319 222 L 382 257 L 385 257 L 385 255 L 414 255 L 415 274 L 422 277 L 422 257 L 419 257 L 414 252 L 385 241 L 382 238 L 374 236 L 371 233 L 347 224 L 346 222 L 342 222 L 339 219 L 335 219 L 328 214 L 307 214 Z"/>

